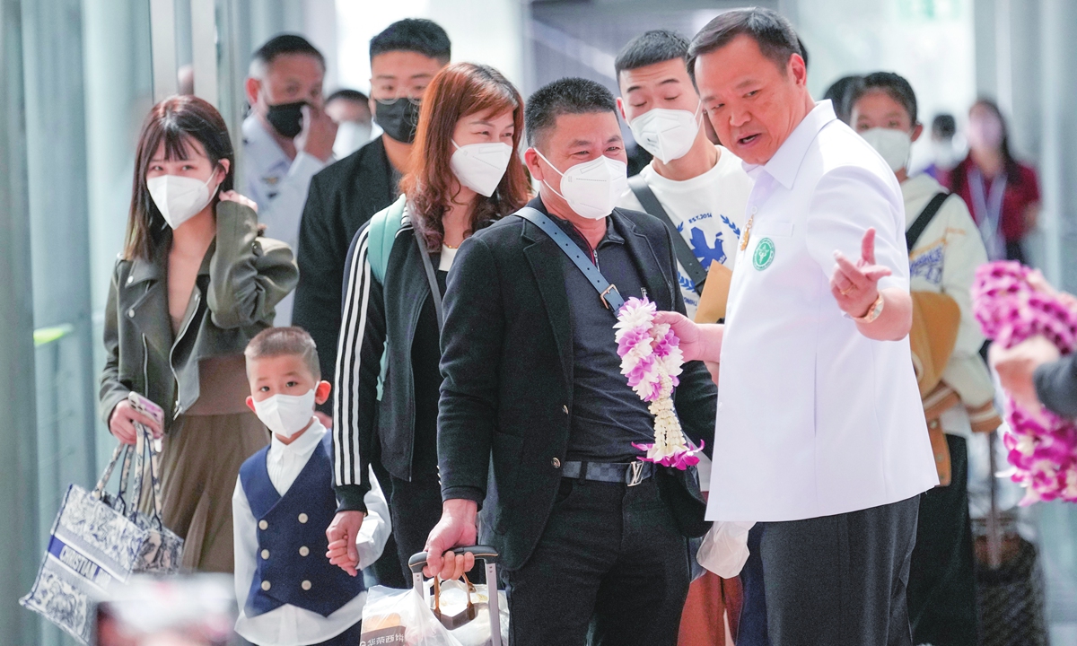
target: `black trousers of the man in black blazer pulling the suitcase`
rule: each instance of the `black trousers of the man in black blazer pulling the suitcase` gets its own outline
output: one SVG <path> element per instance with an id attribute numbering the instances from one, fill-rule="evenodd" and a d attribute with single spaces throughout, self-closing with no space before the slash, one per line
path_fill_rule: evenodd
<path id="1" fill-rule="evenodd" d="M 688 543 L 648 478 L 561 480 L 522 567 L 505 572 L 512 646 L 674 646 Z"/>

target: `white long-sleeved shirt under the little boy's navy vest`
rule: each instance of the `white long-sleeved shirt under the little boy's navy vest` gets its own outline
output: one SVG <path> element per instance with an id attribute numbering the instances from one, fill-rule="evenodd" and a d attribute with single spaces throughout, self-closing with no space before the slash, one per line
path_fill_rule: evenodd
<path id="1" fill-rule="evenodd" d="M 321 444 L 325 433 L 325 426 L 316 419 L 306 433 L 290 445 L 283 444 L 274 435 L 266 454 L 266 471 L 269 472 L 269 481 L 272 482 L 277 493 L 284 495 L 299 472 L 307 465 L 307 460 Z M 332 481 L 332 474 L 326 474 L 325 477 L 327 482 Z M 355 542 L 359 548 L 360 570 L 378 560 L 392 532 L 389 504 L 373 472 L 370 472 L 370 491 L 363 498 L 367 515 L 363 519 L 363 526 Z M 340 606 L 328 617 L 290 604 L 255 617 L 248 617 L 244 607 L 251 580 L 257 568 L 258 539 L 254 514 L 239 479 L 232 495 L 232 522 L 236 550 L 236 602 L 239 605 L 236 632 L 244 640 L 266 646 L 318 644 L 335 637 L 363 618 L 366 592 Z M 325 558 L 324 554 L 318 556 Z M 359 576 L 363 576 L 362 573 Z"/>

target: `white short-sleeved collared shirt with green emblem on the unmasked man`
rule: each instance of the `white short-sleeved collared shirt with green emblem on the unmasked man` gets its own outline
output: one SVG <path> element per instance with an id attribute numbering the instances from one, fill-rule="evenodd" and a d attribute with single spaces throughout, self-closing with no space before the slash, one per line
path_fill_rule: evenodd
<path id="1" fill-rule="evenodd" d="M 830 294 L 834 252 L 909 289 L 897 179 L 822 101 L 755 180 L 726 310 L 709 520 L 788 521 L 904 501 L 938 483 L 909 339 L 865 337 Z"/>

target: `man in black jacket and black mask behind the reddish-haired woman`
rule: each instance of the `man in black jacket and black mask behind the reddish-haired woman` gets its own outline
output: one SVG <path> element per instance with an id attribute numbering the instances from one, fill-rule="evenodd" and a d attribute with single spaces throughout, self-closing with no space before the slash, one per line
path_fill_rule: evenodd
<path id="1" fill-rule="evenodd" d="M 398 20 L 370 39 L 370 110 L 383 132 L 310 182 L 299 226 L 300 278 L 293 322 L 318 345 L 322 375 L 336 373 L 348 247 L 359 227 L 396 199 L 401 171 L 411 153 L 419 103 L 434 74 L 449 62 L 449 54 L 448 34 L 431 20 Z M 386 495 L 391 496 L 391 480 L 377 450 L 372 447 L 366 455 Z M 347 506 L 338 510 L 360 511 Z M 375 574 L 383 585 L 407 587 L 396 561 L 395 544 L 387 544 L 374 564 Z"/>

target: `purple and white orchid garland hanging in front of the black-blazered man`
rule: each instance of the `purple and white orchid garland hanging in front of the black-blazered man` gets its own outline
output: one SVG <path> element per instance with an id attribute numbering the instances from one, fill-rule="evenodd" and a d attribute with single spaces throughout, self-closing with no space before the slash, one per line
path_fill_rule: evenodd
<path id="1" fill-rule="evenodd" d="M 640 398 L 651 402 L 655 416 L 654 444 L 632 446 L 646 451 L 643 462 L 673 466 L 681 471 L 699 462 L 702 446 L 688 443 L 673 409 L 673 388 L 677 385 L 684 354 L 680 340 L 668 324 L 655 324 L 658 308 L 646 298 L 629 298 L 617 312 L 617 355 L 620 374 L 628 377 Z"/>

